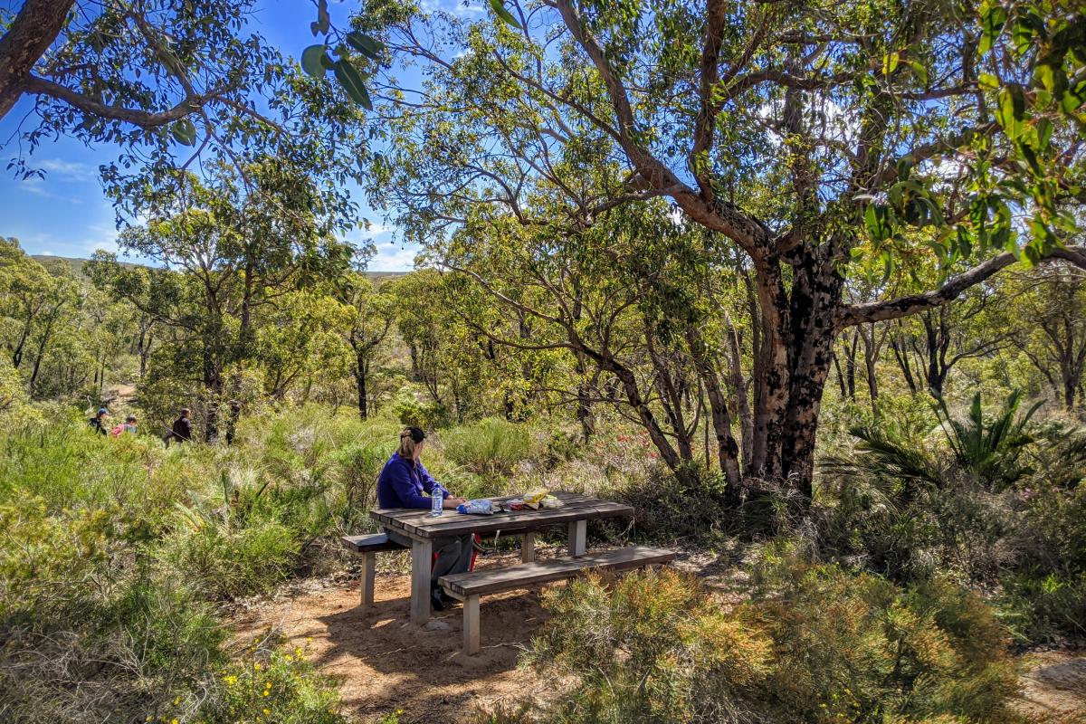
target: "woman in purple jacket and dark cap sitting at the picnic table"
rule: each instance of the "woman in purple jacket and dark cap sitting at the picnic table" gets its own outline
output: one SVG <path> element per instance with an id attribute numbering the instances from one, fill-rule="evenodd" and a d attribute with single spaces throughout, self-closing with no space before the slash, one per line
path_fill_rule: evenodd
<path id="1" fill-rule="evenodd" d="M 425 446 L 426 433 L 409 427 L 400 433 L 400 449 L 384 463 L 377 479 L 377 504 L 381 508 L 425 508 L 430 509 L 431 496 L 442 497 L 442 507 L 456 509 L 464 498 L 453 497 L 444 485 L 433 479 L 419 460 Z M 426 493 L 427 495 L 424 495 Z M 412 547 L 412 539 L 386 529 L 389 538 L 400 545 Z M 451 573 L 464 573 L 471 564 L 471 536 L 455 535 L 434 538 L 433 551 L 438 559 L 430 572 L 430 602 L 438 611 L 443 611 L 449 598 L 438 579 Z"/>

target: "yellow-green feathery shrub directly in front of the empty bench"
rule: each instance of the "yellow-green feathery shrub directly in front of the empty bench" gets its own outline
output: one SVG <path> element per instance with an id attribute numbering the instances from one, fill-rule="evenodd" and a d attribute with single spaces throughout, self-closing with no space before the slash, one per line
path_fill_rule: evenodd
<path id="1" fill-rule="evenodd" d="M 527 660 L 579 677 L 553 721 L 742 721 L 733 703 L 768 675 L 770 639 L 673 570 L 606 582 L 589 576 L 545 596 L 552 615 Z"/>

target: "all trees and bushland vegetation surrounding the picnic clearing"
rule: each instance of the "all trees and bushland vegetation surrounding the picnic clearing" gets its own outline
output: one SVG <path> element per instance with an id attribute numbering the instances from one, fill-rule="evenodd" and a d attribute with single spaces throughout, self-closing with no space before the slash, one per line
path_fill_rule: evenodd
<path id="1" fill-rule="evenodd" d="M 108 144 L 119 230 L 0 240 L 0 721 L 349 721 L 228 622 L 351 571 L 405 424 L 714 568 L 548 589 L 552 690 L 467 719 L 1022 721 L 1086 639 L 1082 4 L 438 4 L 298 62 L 253 0 L 0 9 L 9 168 Z"/>

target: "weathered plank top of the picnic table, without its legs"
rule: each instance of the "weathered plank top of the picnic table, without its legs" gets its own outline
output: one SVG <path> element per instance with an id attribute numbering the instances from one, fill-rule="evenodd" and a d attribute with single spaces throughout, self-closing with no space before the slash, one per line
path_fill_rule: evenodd
<path id="1" fill-rule="evenodd" d="M 534 531 L 559 523 L 598 518 L 632 518 L 633 508 L 622 503 L 580 495 L 578 493 L 552 493 L 563 501 L 560 508 L 540 508 L 495 512 L 492 516 L 471 516 L 446 510 L 442 516 L 431 517 L 421 508 L 378 508 L 369 516 L 381 525 L 401 531 L 416 538 L 437 538 L 445 535 L 468 533 L 493 533 L 495 531 Z M 492 498 L 507 500 L 514 495 Z"/>

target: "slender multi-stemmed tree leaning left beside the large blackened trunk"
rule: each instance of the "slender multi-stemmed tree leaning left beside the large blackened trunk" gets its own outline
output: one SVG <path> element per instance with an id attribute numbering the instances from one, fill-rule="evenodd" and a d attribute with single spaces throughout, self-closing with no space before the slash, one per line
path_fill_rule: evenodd
<path id="1" fill-rule="evenodd" d="M 565 373 L 550 377 L 548 393 L 579 416 L 613 406 L 680 478 L 693 473 L 698 432 L 711 429 L 737 493 L 740 447 L 717 364 L 732 330 L 714 316 L 729 270 L 712 263 L 715 236 L 659 202 L 606 214 L 560 242 L 557 231 L 523 228 L 512 215 L 468 219 L 440 249 L 447 267 L 475 282 L 460 299 L 484 292 L 518 323 L 502 314 L 465 315 L 464 323 L 520 354 L 550 355 Z"/>

